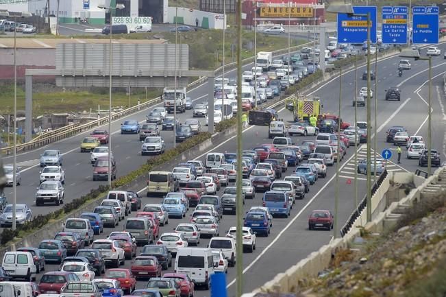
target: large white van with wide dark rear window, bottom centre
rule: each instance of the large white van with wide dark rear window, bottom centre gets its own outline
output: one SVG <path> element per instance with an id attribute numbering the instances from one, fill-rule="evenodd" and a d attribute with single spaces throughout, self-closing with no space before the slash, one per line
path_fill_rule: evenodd
<path id="1" fill-rule="evenodd" d="M 187 274 L 195 285 L 210 287 L 214 259 L 210 248 L 180 248 L 175 258 L 175 273 Z"/>

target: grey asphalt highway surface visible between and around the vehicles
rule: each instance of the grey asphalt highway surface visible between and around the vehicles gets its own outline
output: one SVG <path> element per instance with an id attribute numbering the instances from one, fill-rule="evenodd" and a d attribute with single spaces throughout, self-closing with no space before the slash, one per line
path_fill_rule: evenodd
<path id="1" fill-rule="evenodd" d="M 440 45 L 442 51 L 445 50 L 445 45 Z M 397 75 L 397 62 L 400 60 L 398 57 L 386 58 L 378 62 L 377 73 L 377 152 L 381 152 L 386 147 L 392 147 L 391 144 L 385 143 L 385 132 L 390 126 L 402 125 L 405 126 L 410 134 L 421 134 L 427 139 L 427 123 L 425 119 L 427 117 L 427 97 L 428 88 L 427 83 L 419 90 L 419 95 L 416 91 L 426 80 L 428 80 L 428 63 L 425 61 L 412 61 L 412 69 L 404 71 L 403 77 L 399 78 Z M 433 60 L 434 69 L 432 76 L 434 77 L 432 85 L 432 106 L 434 112 L 432 113 L 432 147 L 441 151 L 442 156 L 445 155 L 444 151 L 444 108 L 443 101 L 440 96 L 441 89 L 437 92 L 436 86 L 441 87 L 441 73 L 445 72 L 445 60 L 443 56 L 434 57 Z M 373 65 L 373 64 L 372 64 Z M 366 81 L 360 80 L 364 67 L 358 69 L 358 89 L 361 86 L 366 85 Z M 438 75 L 438 76 L 437 76 Z M 233 74 L 228 74 L 233 76 Z M 354 89 L 354 71 L 349 71 L 343 75 L 342 79 L 342 96 L 341 100 L 341 117 L 344 121 L 349 123 L 354 122 L 354 107 L 351 106 L 351 99 L 356 93 Z M 375 83 L 373 81 L 373 83 Z M 314 94 L 319 95 L 323 100 L 323 111 L 337 113 L 338 109 L 338 85 L 337 79 L 327 82 L 323 86 L 317 89 Z M 384 89 L 389 86 L 400 86 L 401 88 L 401 101 L 400 102 L 386 102 L 384 101 Z M 206 88 L 206 86 L 204 86 Z M 336 91 L 334 91 L 336 90 Z M 374 86 L 373 86 L 374 90 Z M 376 96 L 376 94 L 374 94 Z M 206 91 L 203 91 L 203 87 L 190 90 L 188 96 L 192 99 L 196 99 L 198 102 L 206 99 Z M 372 106 L 373 110 L 374 106 Z M 277 108 L 280 109 L 280 108 Z M 136 115 L 132 115 L 129 119 L 139 119 L 143 121 L 148 111 L 144 110 Z M 373 113 L 372 113 L 373 114 Z M 179 115 L 180 121 L 184 121 L 190 115 L 190 111 L 186 115 Z M 281 108 L 280 117 L 285 120 L 291 120 L 291 113 L 288 110 Z M 373 117 L 372 117 L 373 119 Z M 135 169 L 144 162 L 147 157 L 140 156 L 140 142 L 138 136 L 135 135 L 121 135 L 118 134 L 120 121 L 115 121 L 112 125 L 113 135 L 113 153 L 118 163 L 118 173 L 123 175 L 128 171 Z M 366 120 L 366 108 L 358 107 L 358 121 Z M 88 133 L 86 133 L 88 134 Z M 73 198 L 77 198 L 79 195 L 86 193 L 89 189 L 97 187 L 99 182 L 92 182 L 91 171 L 92 167 L 89 163 L 89 154 L 81 154 L 79 152 L 79 143 L 86 134 L 80 134 L 73 136 L 70 139 L 53 143 L 48 147 L 41 148 L 34 152 L 28 152 L 18 156 L 18 162 L 23 167 L 22 172 L 22 184 L 17 188 L 18 202 L 27 203 L 33 209 L 34 215 L 38 213 L 47 213 L 53 211 L 57 206 L 47 206 L 45 208 L 34 206 L 34 193 L 35 187 L 38 185 L 38 171 L 39 167 L 32 167 L 33 163 L 38 163 L 38 156 L 45 149 L 58 148 L 64 152 L 64 169 L 66 171 L 66 202 L 69 202 Z M 171 145 L 173 140 L 173 133 L 166 132 L 164 139 Z M 245 130 L 243 134 L 243 149 L 249 149 L 258 144 L 271 143 L 271 139 L 267 139 L 267 127 L 251 126 Z M 293 136 L 295 142 L 301 142 L 303 139 L 314 139 L 314 136 L 299 137 Z M 228 141 L 213 147 L 212 150 L 216 152 L 234 152 L 236 150 L 235 137 L 232 137 Z M 364 147 L 359 147 L 358 150 L 360 156 L 364 156 Z M 340 163 L 340 175 L 341 177 L 339 187 L 339 207 L 338 207 L 338 228 L 343 225 L 343 222 L 347 219 L 351 211 L 354 209 L 354 170 L 351 170 L 351 164 L 353 161 L 354 148 L 350 147 L 347 156 L 344 161 Z M 203 160 L 205 154 L 198 156 Z M 403 153 L 403 156 L 405 154 Z M 5 163 L 11 161 L 11 158 L 6 158 Z M 395 156 L 393 156 L 393 162 L 395 162 Z M 389 164 L 388 168 L 393 171 L 414 171 L 418 168 L 417 160 L 403 159 L 399 166 L 395 164 Z M 31 165 L 31 166 L 30 166 Z M 319 179 L 315 185 L 310 189 L 310 193 L 306 194 L 306 198 L 303 200 L 297 200 L 290 218 L 277 218 L 274 219 L 273 229 L 269 237 L 258 237 L 257 249 L 253 254 L 245 254 L 244 257 L 244 283 L 245 287 L 243 292 L 251 292 L 252 289 L 259 287 L 266 281 L 271 280 L 278 272 L 284 272 L 291 265 L 294 265 L 300 259 L 306 257 L 310 252 L 317 250 L 323 244 L 330 241 L 332 233 L 328 231 L 309 231 L 307 219 L 308 215 L 313 209 L 330 209 L 334 210 L 334 167 L 328 167 L 327 178 Z M 166 168 L 169 169 L 169 168 Z M 288 169 L 287 174 L 290 174 L 291 170 Z M 350 179 L 351 183 L 348 182 Z M 365 188 L 365 176 L 360 176 L 358 180 L 358 199 L 364 197 L 366 192 Z M 82 187 L 79 187 L 82 185 Z M 7 189 L 8 197 L 11 197 Z M 145 193 L 145 189 L 134 189 Z M 143 204 L 149 202 L 160 202 L 160 198 L 143 198 Z M 260 205 L 260 195 L 258 194 L 255 200 L 247 200 L 245 209 L 249 206 Z M 191 211 L 188 211 L 188 215 Z M 132 213 L 134 215 L 134 213 Z M 186 215 L 186 218 L 188 217 Z M 181 219 L 171 219 L 169 225 L 162 227 L 161 232 L 169 232 L 176 226 L 178 222 L 183 222 Z M 230 226 L 235 226 L 235 217 L 232 215 L 225 215 L 220 226 L 220 235 L 223 235 L 225 230 L 228 230 Z M 121 223 L 116 230 L 122 230 L 123 224 Z M 104 233 L 109 233 L 111 229 L 106 229 Z M 105 235 L 101 235 L 103 237 Z M 199 246 L 206 246 L 207 240 L 202 240 Z M 126 263 L 126 267 L 129 267 L 129 261 Z M 58 269 L 58 265 L 48 265 L 47 271 Z M 227 275 L 227 283 L 229 287 L 228 296 L 235 295 L 235 270 L 230 268 Z M 144 281 L 138 281 L 138 288 L 145 285 Z M 208 291 L 199 290 L 195 296 L 209 296 Z"/>

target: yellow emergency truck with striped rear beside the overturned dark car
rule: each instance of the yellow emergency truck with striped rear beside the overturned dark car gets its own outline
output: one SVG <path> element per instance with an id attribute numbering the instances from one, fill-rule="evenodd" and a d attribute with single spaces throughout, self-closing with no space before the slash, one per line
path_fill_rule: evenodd
<path id="1" fill-rule="evenodd" d="M 319 97 L 303 97 L 299 94 L 287 98 L 285 106 L 293 112 L 295 121 L 308 121 L 312 115 L 317 117 L 323 108 Z"/>

